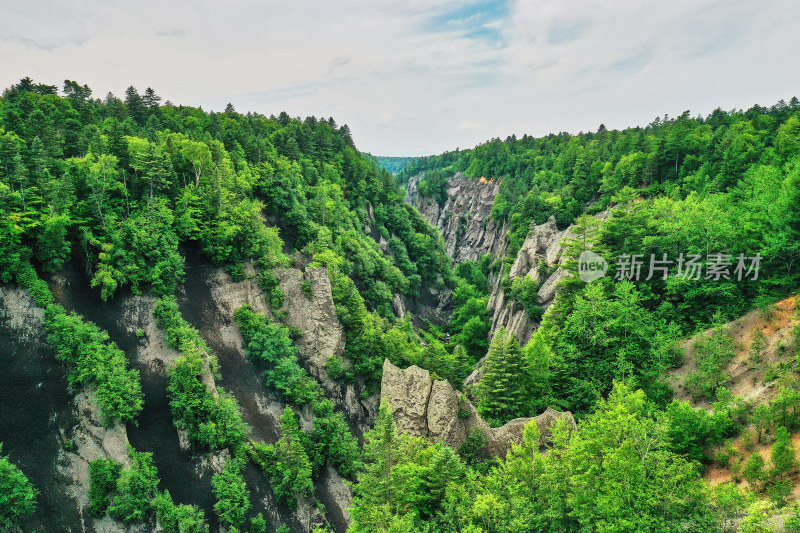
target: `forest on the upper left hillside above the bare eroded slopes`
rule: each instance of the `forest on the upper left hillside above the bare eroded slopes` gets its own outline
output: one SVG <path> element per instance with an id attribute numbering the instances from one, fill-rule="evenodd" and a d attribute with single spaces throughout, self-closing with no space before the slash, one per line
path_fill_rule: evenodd
<path id="1" fill-rule="evenodd" d="M 134 87 L 124 100 L 92 99 L 69 80 L 64 95 L 26 78 L 0 98 L 3 282 L 31 259 L 54 272 L 80 254 L 104 300 L 125 286 L 167 295 L 192 243 L 237 279 L 252 262 L 277 312 L 269 270 L 292 250 L 350 279 L 370 313 L 392 320 L 395 295 L 452 281 L 441 237 L 333 119 L 162 106 Z M 29 287 L 37 301 L 47 298 L 39 285 Z M 354 371 L 379 381 L 382 357 L 357 359 Z"/>

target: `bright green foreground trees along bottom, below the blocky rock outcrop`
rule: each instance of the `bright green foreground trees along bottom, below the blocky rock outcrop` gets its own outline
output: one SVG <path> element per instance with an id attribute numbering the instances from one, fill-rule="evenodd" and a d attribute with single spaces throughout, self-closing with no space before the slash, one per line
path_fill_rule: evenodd
<path id="1" fill-rule="evenodd" d="M 715 531 L 745 498 L 712 501 L 667 430 L 643 391 L 618 384 L 577 431 L 552 428 L 548 453 L 531 422 L 504 459 L 467 468 L 452 450 L 398 435 L 383 406 L 365 436 L 351 530 Z"/>

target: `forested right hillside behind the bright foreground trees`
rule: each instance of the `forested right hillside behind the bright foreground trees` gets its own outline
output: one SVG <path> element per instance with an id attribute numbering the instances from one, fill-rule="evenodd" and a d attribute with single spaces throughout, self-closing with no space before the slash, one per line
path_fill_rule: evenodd
<path id="1" fill-rule="evenodd" d="M 640 279 L 607 276 L 586 285 L 573 276 L 562 282 L 556 304 L 525 348 L 535 359 L 533 377 L 519 387 L 537 391 L 526 394 L 533 405 L 507 411 L 509 419 L 547 405 L 587 412 L 623 378 L 666 401 L 670 393 L 659 376 L 671 364 L 675 339 L 794 294 L 800 281 L 798 156 L 800 102 L 792 98 L 707 117 L 665 116 L 644 128 L 494 139 L 420 158 L 398 180 L 421 173 L 420 194 L 440 203 L 455 172 L 501 180 L 492 217 L 508 229 L 508 256 L 483 270 L 504 277 L 506 294 L 527 302 L 537 321 L 538 287 L 507 277 L 531 224 L 553 216 L 562 229 L 575 225 L 566 253 L 573 271 L 586 249 L 612 267 L 625 254 L 641 254 Z M 600 213 L 607 216 L 591 216 Z M 650 278 L 651 256 L 664 254 L 672 261 L 668 275 Z M 701 275 L 678 275 L 677 260 L 693 256 Z M 757 279 L 737 274 L 740 259 L 749 268 L 756 256 Z M 724 274 L 709 279 L 715 262 L 725 264 Z M 714 373 L 696 380 L 708 395 L 715 387 L 702 382 Z"/>

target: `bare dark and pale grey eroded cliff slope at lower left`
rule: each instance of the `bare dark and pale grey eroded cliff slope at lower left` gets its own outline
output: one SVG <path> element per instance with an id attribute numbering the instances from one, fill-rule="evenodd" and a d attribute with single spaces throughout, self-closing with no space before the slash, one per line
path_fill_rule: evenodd
<path id="1" fill-rule="evenodd" d="M 184 318 L 195 327 L 220 363 L 219 379 L 209 371 L 206 387 L 219 387 L 236 398 L 250 437 L 273 443 L 280 437 L 284 404 L 268 391 L 259 371 L 248 359 L 233 313 L 243 304 L 270 315 L 255 272 L 248 269 L 243 281 L 233 281 L 223 270 L 187 256 L 186 281 L 178 304 Z M 362 384 L 340 383 L 330 378 L 327 359 L 343 356 L 344 334 L 336 316 L 330 281 L 325 269 L 297 268 L 274 271 L 284 303 L 285 323 L 302 334 L 298 359 L 315 377 L 325 394 L 340 410 L 351 431 L 360 437 L 372 425 L 377 397 L 361 399 Z M 309 294 L 301 287 L 308 282 Z M 88 286 L 78 262 L 49 282 L 58 303 L 82 314 L 106 330 L 125 352 L 132 368 L 140 372 L 144 409 L 136 424 L 108 426 L 101 419 L 90 389 L 74 393 L 66 371 L 46 341 L 42 310 L 27 291 L 0 286 L 0 442 L 4 455 L 39 488 L 39 509 L 29 525 L 37 531 L 151 532 L 160 529 L 154 519 L 125 526 L 109 517 L 95 519 L 88 512 L 89 462 L 97 458 L 129 464 L 127 446 L 153 452 L 160 489 L 169 490 L 181 503 L 200 506 L 217 531 L 211 478 L 228 459 L 227 451 L 209 452 L 193 445 L 177 431 L 167 396 L 168 372 L 180 353 L 168 347 L 153 316 L 157 300 L 151 296 L 119 294 L 102 302 Z M 277 310 L 275 310 L 277 311 Z M 311 424 L 310 410 L 299 413 L 301 424 Z M 327 519 L 334 531 L 349 524 L 349 485 L 331 467 L 315 483 L 315 499 L 301 500 L 295 509 L 280 504 L 266 477 L 253 465 L 244 472 L 254 512 L 262 512 L 276 530 L 287 524 L 292 531 L 308 531 L 309 524 Z M 318 507 L 324 507 L 324 511 Z M 324 515 L 323 515 L 324 513 Z M 33 530 L 32 529 L 32 530 Z"/>

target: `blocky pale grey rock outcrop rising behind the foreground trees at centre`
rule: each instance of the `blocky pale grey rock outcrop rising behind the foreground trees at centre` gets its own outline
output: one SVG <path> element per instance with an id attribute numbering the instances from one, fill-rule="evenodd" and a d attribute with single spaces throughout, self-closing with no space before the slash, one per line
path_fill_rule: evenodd
<path id="1" fill-rule="evenodd" d="M 517 418 L 499 428 L 491 428 L 478 415 L 469 399 L 447 381 L 432 380 L 427 370 L 410 366 L 400 370 L 388 360 L 383 363 L 381 401 L 392 411 L 398 431 L 427 437 L 456 451 L 473 431 L 483 435 L 487 456 L 505 457 L 512 443 L 522 441 L 522 429 L 534 420 L 539 428 L 540 444 L 547 443 L 550 430 L 558 420 L 575 428 L 569 411 L 548 409 L 534 418 Z"/>

